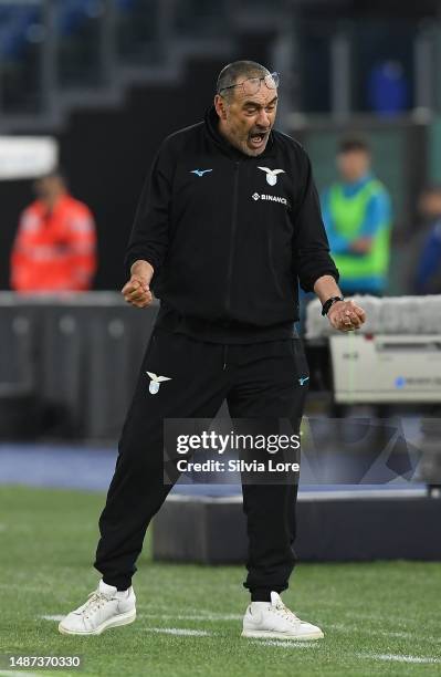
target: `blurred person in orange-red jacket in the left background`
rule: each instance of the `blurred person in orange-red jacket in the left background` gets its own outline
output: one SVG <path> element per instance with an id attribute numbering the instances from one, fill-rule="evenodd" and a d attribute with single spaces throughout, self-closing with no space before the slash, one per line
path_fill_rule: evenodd
<path id="1" fill-rule="evenodd" d="M 86 291 L 96 271 L 96 232 L 86 205 L 61 171 L 35 181 L 36 200 L 20 217 L 10 284 L 18 292 Z"/>

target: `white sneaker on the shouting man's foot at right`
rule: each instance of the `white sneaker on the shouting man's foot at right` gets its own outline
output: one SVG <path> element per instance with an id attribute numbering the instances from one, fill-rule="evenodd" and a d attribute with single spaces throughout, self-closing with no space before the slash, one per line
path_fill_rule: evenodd
<path id="1" fill-rule="evenodd" d="M 271 602 L 251 602 L 243 616 L 242 637 L 266 639 L 322 639 L 323 632 L 316 625 L 301 621 L 282 602 L 277 593 L 271 593 Z"/>

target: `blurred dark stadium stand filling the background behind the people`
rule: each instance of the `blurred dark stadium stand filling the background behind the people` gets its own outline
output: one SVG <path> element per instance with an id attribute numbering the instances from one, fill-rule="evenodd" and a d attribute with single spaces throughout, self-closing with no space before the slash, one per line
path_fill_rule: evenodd
<path id="1" fill-rule="evenodd" d="M 438 4 L 406 3 L 398 18 L 387 1 L 0 0 L 0 134 L 56 137 L 105 240 L 96 289 L 115 289 L 158 140 L 201 118 L 225 62 L 256 59 L 282 73 L 279 126 L 306 145 L 319 188 L 342 132 L 371 140 L 395 201 L 390 292 L 400 293 L 416 196 L 441 178 Z M 374 110 L 385 62 L 399 64 L 407 91 L 395 115 Z M 0 184 L 0 289 L 29 195 L 29 183 Z"/>

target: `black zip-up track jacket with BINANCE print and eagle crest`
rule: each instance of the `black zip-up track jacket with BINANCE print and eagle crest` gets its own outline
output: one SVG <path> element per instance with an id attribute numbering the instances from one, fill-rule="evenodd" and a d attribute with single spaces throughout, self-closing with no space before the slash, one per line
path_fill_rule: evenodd
<path id="1" fill-rule="evenodd" d="M 246 343 L 295 335 L 298 281 L 312 291 L 329 257 L 311 163 L 272 131 L 246 156 L 218 132 L 218 115 L 168 136 L 144 187 L 127 272 L 151 263 L 157 324 L 204 341 Z"/>

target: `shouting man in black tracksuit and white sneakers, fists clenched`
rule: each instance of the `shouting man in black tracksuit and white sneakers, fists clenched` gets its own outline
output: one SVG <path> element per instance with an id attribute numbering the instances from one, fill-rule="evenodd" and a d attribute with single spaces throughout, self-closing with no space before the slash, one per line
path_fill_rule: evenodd
<path id="1" fill-rule="evenodd" d="M 294 327 L 297 281 L 317 293 L 336 329 L 364 322 L 363 310 L 340 299 L 309 159 L 273 129 L 277 84 L 254 62 L 225 66 L 204 121 L 165 139 L 144 188 L 123 293 L 144 308 L 151 288 L 161 305 L 99 520 L 102 605 L 87 612 L 94 634 L 134 619 L 116 602 L 133 594 L 147 525 L 170 490 L 164 419 L 213 418 L 224 399 L 232 418 L 301 419 L 308 368 Z M 295 561 L 296 486 L 242 490 L 252 602 L 243 635 L 322 637 L 277 594 Z M 78 632 L 78 619 L 67 619 L 61 632 L 87 634 L 87 623 Z"/>

